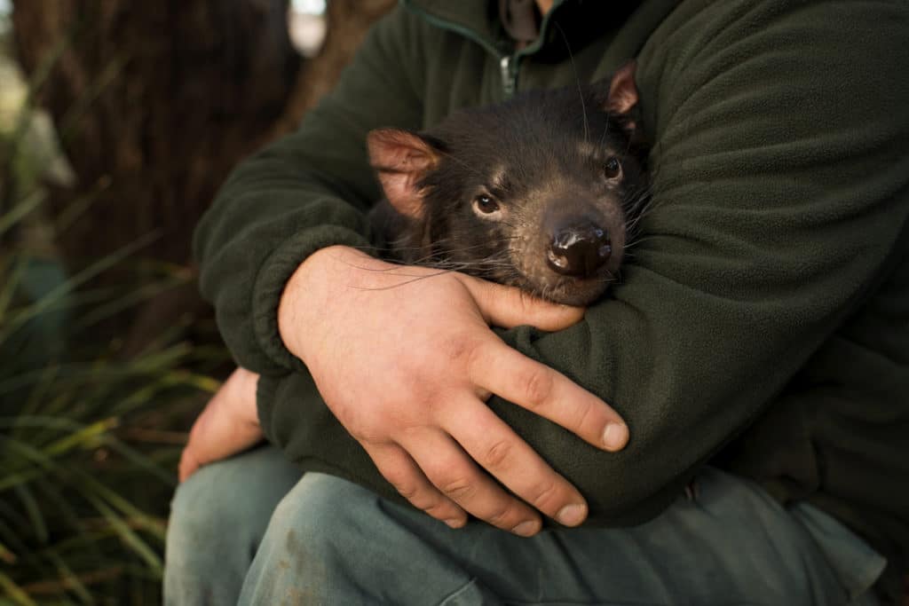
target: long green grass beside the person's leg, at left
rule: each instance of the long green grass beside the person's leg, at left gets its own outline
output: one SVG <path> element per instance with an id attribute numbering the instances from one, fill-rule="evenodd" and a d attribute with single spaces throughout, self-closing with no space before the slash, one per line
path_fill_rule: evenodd
<path id="1" fill-rule="evenodd" d="M 91 200 L 45 211 L 48 160 L 29 141 L 45 75 L 0 124 L 0 606 L 156 604 L 185 429 L 226 353 L 187 338 L 216 342 L 195 318 L 130 355 L 100 336 L 193 278 L 144 258 L 153 235 L 75 269 L 55 256 L 55 234 Z M 111 271 L 125 277 L 97 286 Z"/>

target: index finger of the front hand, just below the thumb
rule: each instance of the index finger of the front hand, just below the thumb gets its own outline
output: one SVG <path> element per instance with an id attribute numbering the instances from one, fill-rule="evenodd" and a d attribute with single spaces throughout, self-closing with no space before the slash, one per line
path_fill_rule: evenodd
<path id="1" fill-rule="evenodd" d="M 627 426 L 606 402 L 498 339 L 474 349 L 469 373 L 477 387 L 558 423 L 597 448 L 618 451 L 628 442 Z"/>

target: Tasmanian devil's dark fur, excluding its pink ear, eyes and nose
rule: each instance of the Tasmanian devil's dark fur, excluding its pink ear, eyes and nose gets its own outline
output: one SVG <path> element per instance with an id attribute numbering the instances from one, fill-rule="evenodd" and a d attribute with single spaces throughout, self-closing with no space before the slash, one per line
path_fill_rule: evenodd
<path id="1" fill-rule="evenodd" d="M 380 245 L 404 263 L 471 273 L 561 303 L 590 303 L 614 280 L 648 192 L 639 121 L 634 112 L 608 111 L 609 92 L 608 81 L 533 91 L 456 112 L 419 134 L 437 154 L 416 183 L 423 214 L 415 219 L 380 204 L 373 216 Z M 619 181 L 604 177 L 613 158 Z M 476 211 L 484 193 L 507 211 L 504 219 Z M 584 280 L 544 268 L 547 230 L 554 229 L 547 222 L 585 214 L 608 224 L 620 249 L 615 258 Z"/>

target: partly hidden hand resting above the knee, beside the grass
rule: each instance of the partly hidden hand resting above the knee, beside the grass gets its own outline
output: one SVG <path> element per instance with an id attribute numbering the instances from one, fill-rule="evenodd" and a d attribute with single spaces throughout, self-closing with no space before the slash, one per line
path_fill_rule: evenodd
<path id="1" fill-rule="evenodd" d="M 238 368 L 205 404 L 180 455 L 180 482 L 199 467 L 243 452 L 262 440 L 255 409 L 257 381 L 257 374 Z"/>

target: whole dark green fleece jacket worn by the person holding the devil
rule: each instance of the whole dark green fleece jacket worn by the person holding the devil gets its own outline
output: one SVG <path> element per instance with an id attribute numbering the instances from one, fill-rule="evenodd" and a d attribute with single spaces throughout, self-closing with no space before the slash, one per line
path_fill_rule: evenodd
<path id="1" fill-rule="evenodd" d="M 831 512 L 894 580 L 909 546 L 909 5 L 568 0 L 515 53 L 494 2 L 402 4 L 295 134 L 236 169 L 196 233 L 225 341 L 264 375 L 269 440 L 400 498 L 276 328 L 309 253 L 369 242 L 381 192 L 366 133 L 637 56 L 654 202 L 624 283 L 567 330 L 500 332 L 614 405 L 631 441 L 601 452 L 489 405 L 584 492 L 591 524 L 653 517 L 710 461 Z"/>

